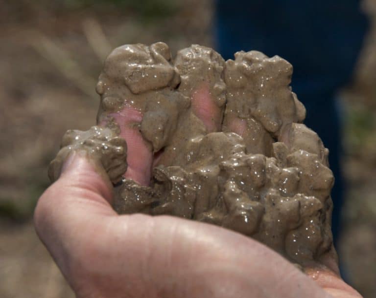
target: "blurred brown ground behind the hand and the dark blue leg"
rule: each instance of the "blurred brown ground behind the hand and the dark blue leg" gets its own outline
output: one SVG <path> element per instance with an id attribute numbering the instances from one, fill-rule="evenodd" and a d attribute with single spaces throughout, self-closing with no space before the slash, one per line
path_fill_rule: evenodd
<path id="1" fill-rule="evenodd" d="M 370 30 L 338 96 L 347 191 L 337 249 L 348 282 L 375 298 L 376 0 L 361 9 Z M 64 132 L 95 124 L 96 79 L 111 49 L 163 41 L 174 55 L 191 43 L 214 46 L 213 18 L 212 0 L 0 0 L 1 298 L 74 297 L 32 213 Z"/>

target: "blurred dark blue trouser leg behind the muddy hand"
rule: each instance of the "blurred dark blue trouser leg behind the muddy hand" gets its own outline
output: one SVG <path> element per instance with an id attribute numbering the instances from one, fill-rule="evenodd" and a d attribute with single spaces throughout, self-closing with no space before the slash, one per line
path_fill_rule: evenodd
<path id="1" fill-rule="evenodd" d="M 307 109 L 305 124 L 330 150 L 335 245 L 343 200 L 335 94 L 351 78 L 367 27 L 358 0 L 216 0 L 216 50 L 225 59 L 259 50 L 294 66 L 292 87 Z"/>

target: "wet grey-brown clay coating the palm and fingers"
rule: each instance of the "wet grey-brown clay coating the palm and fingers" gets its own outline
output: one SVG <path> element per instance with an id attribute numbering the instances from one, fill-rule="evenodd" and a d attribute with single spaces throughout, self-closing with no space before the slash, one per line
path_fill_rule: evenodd
<path id="1" fill-rule="evenodd" d="M 291 76 L 291 64 L 258 51 L 225 62 L 200 45 L 174 60 L 165 43 L 121 46 L 99 77 L 98 126 L 67 132 L 49 176 L 69 152 L 86 150 L 114 183 L 118 213 L 216 224 L 310 264 L 332 248 L 334 178 L 328 149 L 302 124 Z M 132 132 L 156 156 L 144 185 L 124 174 Z"/>

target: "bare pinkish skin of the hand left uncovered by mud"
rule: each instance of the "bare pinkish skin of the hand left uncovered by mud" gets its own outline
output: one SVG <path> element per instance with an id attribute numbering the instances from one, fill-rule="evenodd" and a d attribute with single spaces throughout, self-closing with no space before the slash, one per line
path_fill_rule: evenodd
<path id="1" fill-rule="evenodd" d="M 206 105 L 210 95 L 203 94 Z M 217 111 L 202 110 L 197 116 L 205 125 L 218 127 L 211 123 Z M 128 114 L 117 121 L 126 123 Z M 126 177 L 147 183 L 152 153 L 137 133 L 124 128 L 121 135 L 131 153 Z M 171 216 L 118 215 L 112 192 L 105 173 L 77 152 L 35 210 L 36 231 L 77 298 L 361 298 L 330 255 L 323 262 L 331 270 L 306 275 L 230 230 Z"/>

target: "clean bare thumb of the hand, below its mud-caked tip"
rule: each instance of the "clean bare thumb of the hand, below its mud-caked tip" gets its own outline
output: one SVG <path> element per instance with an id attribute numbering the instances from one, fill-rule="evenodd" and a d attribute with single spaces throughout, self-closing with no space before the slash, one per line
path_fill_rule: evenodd
<path id="1" fill-rule="evenodd" d="M 80 245 L 93 222 L 116 216 L 111 207 L 112 184 L 105 171 L 85 152 L 72 152 L 60 178 L 40 197 L 34 211 L 35 229 L 55 261 Z M 64 273 L 64 268 L 62 268 Z"/>

